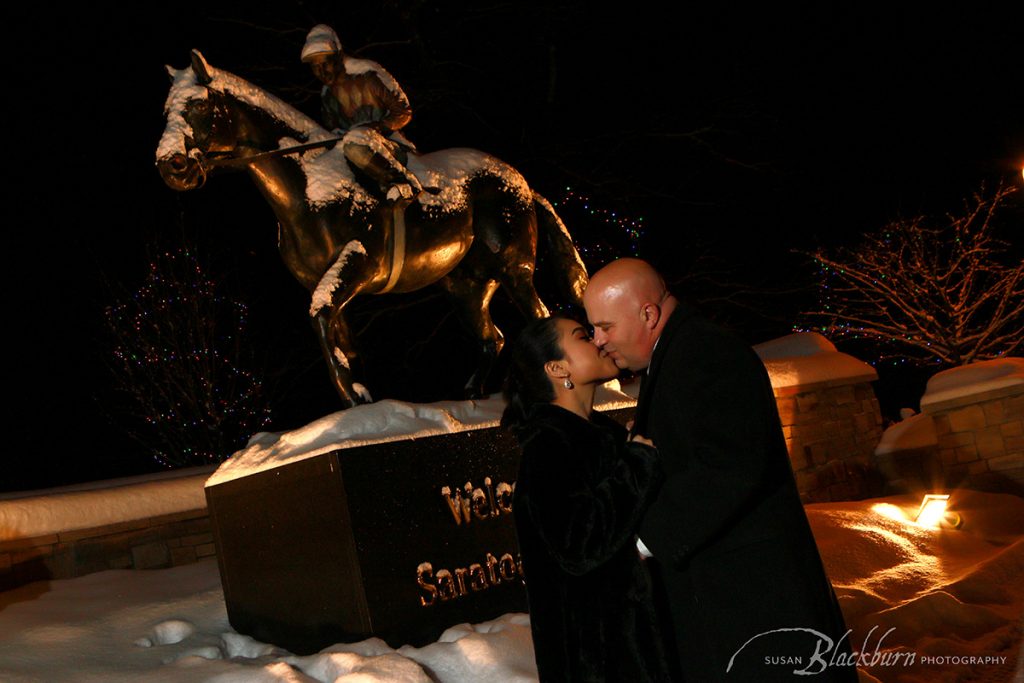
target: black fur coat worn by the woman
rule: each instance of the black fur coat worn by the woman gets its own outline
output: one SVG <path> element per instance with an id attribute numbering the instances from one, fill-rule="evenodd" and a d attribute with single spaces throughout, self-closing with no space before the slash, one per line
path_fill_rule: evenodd
<path id="1" fill-rule="evenodd" d="M 541 681 L 669 680 L 636 529 L 654 450 L 594 412 L 535 405 L 518 431 L 514 514 Z"/>

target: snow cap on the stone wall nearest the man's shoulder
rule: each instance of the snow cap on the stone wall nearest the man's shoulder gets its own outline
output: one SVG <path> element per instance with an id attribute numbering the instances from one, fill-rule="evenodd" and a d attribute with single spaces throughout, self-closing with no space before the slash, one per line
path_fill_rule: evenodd
<path id="1" fill-rule="evenodd" d="M 758 344 L 754 350 L 768 370 L 774 389 L 853 379 L 876 379 L 874 369 L 840 353 L 816 332 L 796 334 Z"/>

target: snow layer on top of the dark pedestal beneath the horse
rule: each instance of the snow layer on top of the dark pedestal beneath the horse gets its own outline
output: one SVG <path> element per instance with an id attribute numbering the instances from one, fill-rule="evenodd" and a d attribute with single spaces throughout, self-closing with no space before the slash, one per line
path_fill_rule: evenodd
<path id="1" fill-rule="evenodd" d="M 598 389 L 594 407 L 611 411 L 635 404 L 611 381 Z M 498 394 L 481 400 L 407 403 L 381 400 L 339 411 L 290 432 L 260 432 L 232 455 L 207 481 L 213 486 L 338 449 L 399 439 L 417 439 L 471 429 L 497 427 L 505 410 Z"/>

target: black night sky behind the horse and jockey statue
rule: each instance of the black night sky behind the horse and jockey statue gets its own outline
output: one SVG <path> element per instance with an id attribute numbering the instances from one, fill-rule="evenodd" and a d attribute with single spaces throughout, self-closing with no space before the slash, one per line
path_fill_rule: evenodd
<path id="1" fill-rule="evenodd" d="M 250 181 L 224 175 L 177 194 L 154 167 L 164 65 L 184 67 L 194 47 L 318 118 L 299 51 L 309 28 L 331 24 L 346 49 L 402 84 L 414 109 L 406 132 L 421 150 L 474 146 L 509 162 L 563 202 L 589 266 L 606 253 L 596 245 L 635 248 L 751 343 L 785 334 L 808 301 L 813 273 L 794 250 L 852 246 L 900 216 L 955 211 L 983 182 L 1021 184 L 1019 11 L 199 4 L 161 16 L 106 3 L 23 8 L 8 25 L 9 46 L 24 47 L 6 98 L 15 180 L 4 276 L 17 350 L 0 490 L 155 467 L 112 409 L 102 311 L 141 284 L 160 250 L 188 245 L 248 304 L 274 397 L 270 429 L 337 408 L 308 294 L 281 262 L 275 219 Z M 564 203 L 567 187 L 592 209 L 642 217 L 643 234 L 631 242 Z M 1018 200 L 1008 233 L 1018 250 L 1022 218 Z M 716 310 L 716 285 L 693 279 L 696 254 L 717 259 L 724 282 L 761 292 L 760 314 Z M 457 390 L 463 369 L 436 356 L 471 346 L 450 309 L 429 294 L 397 304 L 352 311 L 374 349 L 371 390 L 417 400 Z M 510 334 L 521 324 L 503 301 L 495 315 Z"/>

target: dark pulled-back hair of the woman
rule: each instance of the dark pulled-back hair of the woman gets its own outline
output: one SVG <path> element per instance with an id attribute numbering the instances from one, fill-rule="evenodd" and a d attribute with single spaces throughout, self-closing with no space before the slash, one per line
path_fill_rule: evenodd
<path id="1" fill-rule="evenodd" d="M 549 360 L 565 357 L 558 343 L 558 316 L 534 321 L 519 333 L 512 344 L 509 371 L 502 393 L 508 405 L 502 414 L 502 426 L 515 429 L 525 422 L 535 403 L 550 403 L 555 390 L 544 371 Z"/>

